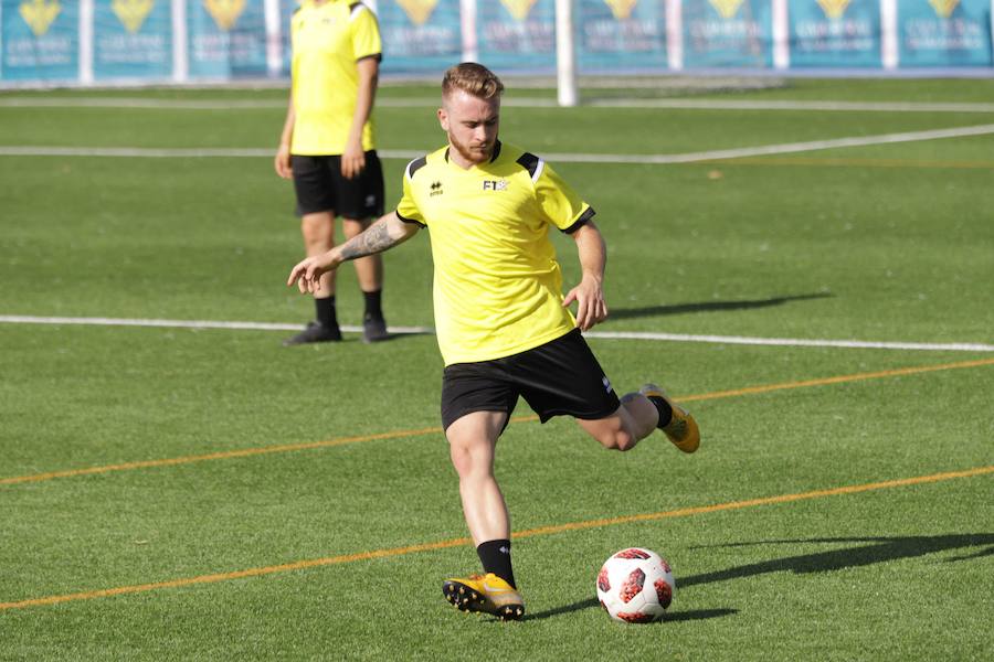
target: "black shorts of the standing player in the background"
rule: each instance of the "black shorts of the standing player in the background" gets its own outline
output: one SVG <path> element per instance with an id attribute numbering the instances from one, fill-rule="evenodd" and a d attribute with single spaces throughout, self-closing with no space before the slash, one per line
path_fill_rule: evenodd
<path id="1" fill-rule="evenodd" d="M 376 150 L 366 152 L 366 168 L 358 177 L 341 175 L 341 157 L 293 154 L 297 215 L 335 211 L 346 218 L 378 218 L 383 215 L 383 168 Z"/>

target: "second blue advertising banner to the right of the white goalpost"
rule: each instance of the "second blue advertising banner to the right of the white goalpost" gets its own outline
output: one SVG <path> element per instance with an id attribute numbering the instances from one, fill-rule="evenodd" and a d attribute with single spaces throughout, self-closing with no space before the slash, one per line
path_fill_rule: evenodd
<path id="1" fill-rule="evenodd" d="M 684 0 L 684 66 L 771 67 L 771 8 L 769 0 Z"/>

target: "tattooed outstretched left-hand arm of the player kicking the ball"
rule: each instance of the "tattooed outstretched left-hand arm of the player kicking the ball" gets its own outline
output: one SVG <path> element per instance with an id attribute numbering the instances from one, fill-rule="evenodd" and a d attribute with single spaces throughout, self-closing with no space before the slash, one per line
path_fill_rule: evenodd
<path id="1" fill-rule="evenodd" d="M 420 225 L 404 223 L 396 212 L 390 212 L 345 244 L 297 263 L 286 284 L 296 282 L 302 292 L 314 292 L 320 285 L 321 275 L 337 269 L 341 263 L 393 248 L 413 237 L 419 229 Z"/>

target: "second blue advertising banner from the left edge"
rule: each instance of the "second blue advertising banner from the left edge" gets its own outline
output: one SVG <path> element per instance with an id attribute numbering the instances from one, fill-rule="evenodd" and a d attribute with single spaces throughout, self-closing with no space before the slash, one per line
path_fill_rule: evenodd
<path id="1" fill-rule="evenodd" d="M 105 78 L 168 78 L 172 74 L 169 0 L 97 0 L 93 74 Z"/>

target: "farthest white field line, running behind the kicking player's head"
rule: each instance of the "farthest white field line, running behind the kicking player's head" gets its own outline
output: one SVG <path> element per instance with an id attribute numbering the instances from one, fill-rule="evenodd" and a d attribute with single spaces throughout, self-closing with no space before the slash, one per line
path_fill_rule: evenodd
<path id="1" fill-rule="evenodd" d="M 505 106 L 518 108 L 553 108 L 556 99 L 507 98 Z M 377 105 L 385 108 L 434 108 L 438 99 L 381 97 Z M 816 113 L 994 113 L 994 104 L 929 103 L 929 102 L 791 102 L 791 100 L 719 100 L 719 99 L 633 99 L 591 98 L 583 105 L 603 108 L 660 108 L 673 110 L 789 110 Z M 252 99 L 147 99 L 133 97 L 45 98 L 0 97 L 0 107 L 8 108 L 126 108 L 150 110 L 271 110 L 285 109 L 285 100 Z"/>

